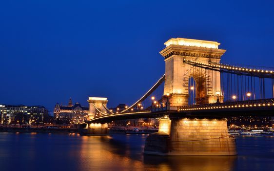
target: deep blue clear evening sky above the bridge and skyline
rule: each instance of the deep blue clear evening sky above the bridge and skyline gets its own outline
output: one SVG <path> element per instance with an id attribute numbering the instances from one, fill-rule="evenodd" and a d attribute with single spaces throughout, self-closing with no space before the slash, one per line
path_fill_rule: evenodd
<path id="1" fill-rule="evenodd" d="M 0 103 L 132 103 L 170 38 L 217 41 L 222 62 L 274 66 L 273 0 L 2 0 Z"/>

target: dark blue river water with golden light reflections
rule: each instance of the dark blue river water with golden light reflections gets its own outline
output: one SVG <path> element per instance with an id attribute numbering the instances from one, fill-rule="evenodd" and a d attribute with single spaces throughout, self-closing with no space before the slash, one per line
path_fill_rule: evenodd
<path id="1" fill-rule="evenodd" d="M 143 155 L 147 135 L 0 133 L 0 171 L 264 171 L 274 136 L 237 136 L 237 156 Z"/>

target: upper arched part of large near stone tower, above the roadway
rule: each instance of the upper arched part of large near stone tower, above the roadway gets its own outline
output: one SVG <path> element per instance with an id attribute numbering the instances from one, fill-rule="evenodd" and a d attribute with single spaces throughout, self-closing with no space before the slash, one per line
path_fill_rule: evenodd
<path id="1" fill-rule="evenodd" d="M 164 97 L 167 97 L 171 107 L 188 105 L 189 78 L 196 82 L 196 104 L 216 103 L 216 92 L 221 94 L 220 73 L 194 67 L 184 63 L 184 60 L 200 61 L 206 64 L 219 64 L 226 50 L 218 49 L 220 43 L 194 39 L 176 38 L 166 43 L 166 48 L 160 54 L 165 58 Z M 167 98 L 163 98 L 163 103 Z"/>

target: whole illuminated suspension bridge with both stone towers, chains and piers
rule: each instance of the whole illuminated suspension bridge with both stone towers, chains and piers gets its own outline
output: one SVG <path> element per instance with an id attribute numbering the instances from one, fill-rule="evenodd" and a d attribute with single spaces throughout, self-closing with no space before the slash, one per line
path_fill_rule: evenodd
<path id="1" fill-rule="evenodd" d="M 221 64 L 220 43 L 176 38 L 160 54 L 165 75 L 134 104 L 116 112 L 107 98 L 90 97 L 89 133 L 116 120 L 157 118 L 159 130 L 146 139 L 144 153 L 235 155 L 226 119 L 274 116 L 274 68 Z"/>

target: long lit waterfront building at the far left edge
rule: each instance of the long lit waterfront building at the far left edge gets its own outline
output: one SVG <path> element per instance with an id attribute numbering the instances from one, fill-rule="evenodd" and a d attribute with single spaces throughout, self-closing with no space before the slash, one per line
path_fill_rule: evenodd
<path id="1" fill-rule="evenodd" d="M 0 105 L 1 124 L 44 124 L 49 120 L 48 110 L 43 106 Z"/>

